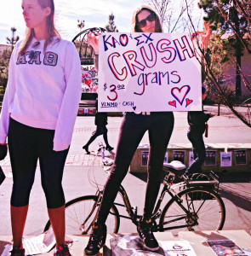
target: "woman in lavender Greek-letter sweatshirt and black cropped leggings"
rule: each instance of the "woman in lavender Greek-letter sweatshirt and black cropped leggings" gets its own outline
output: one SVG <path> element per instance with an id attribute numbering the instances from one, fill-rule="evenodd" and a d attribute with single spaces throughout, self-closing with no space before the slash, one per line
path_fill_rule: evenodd
<path id="1" fill-rule="evenodd" d="M 0 117 L 0 143 L 9 144 L 13 172 L 12 256 L 24 256 L 22 237 L 39 160 L 57 256 L 65 242 L 62 177 L 81 97 L 81 65 L 74 44 L 54 27 L 53 0 L 22 0 L 26 37 L 15 44 Z"/>

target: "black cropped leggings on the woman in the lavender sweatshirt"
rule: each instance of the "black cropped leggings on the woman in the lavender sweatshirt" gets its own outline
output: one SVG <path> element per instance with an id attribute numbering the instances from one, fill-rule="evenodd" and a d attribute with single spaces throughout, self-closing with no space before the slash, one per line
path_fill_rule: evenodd
<path id="1" fill-rule="evenodd" d="M 61 182 L 69 148 L 55 152 L 53 130 L 22 125 L 14 119 L 10 119 L 8 137 L 14 181 L 11 206 L 24 207 L 29 204 L 39 159 L 47 207 L 62 207 L 65 204 L 65 195 Z"/>

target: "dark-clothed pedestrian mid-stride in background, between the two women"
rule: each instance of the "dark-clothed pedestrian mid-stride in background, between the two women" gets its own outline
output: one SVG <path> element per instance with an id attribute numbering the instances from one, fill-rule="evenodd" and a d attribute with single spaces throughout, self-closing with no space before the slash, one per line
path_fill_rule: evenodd
<path id="1" fill-rule="evenodd" d="M 89 138 L 88 143 L 86 143 L 83 146 L 83 149 L 86 151 L 86 154 L 90 154 L 88 151 L 88 146 L 94 142 L 96 137 L 99 137 L 100 135 L 103 135 L 104 141 L 106 143 L 106 150 L 111 151 L 113 148 L 110 146 L 108 143 L 108 138 L 107 138 L 107 128 L 106 125 L 108 125 L 107 122 L 107 113 L 106 112 L 98 112 L 98 100 L 96 100 L 96 113 L 95 113 L 95 125 L 96 131 L 93 132 L 92 137 Z"/>

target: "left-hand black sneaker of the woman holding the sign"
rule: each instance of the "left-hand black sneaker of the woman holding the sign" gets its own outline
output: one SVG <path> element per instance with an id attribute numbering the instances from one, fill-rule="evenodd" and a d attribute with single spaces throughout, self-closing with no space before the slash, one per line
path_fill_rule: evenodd
<path id="1" fill-rule="evenodd" d="M 85 255 L 98 255 L 100 249 L 104 247 L 106 243 L 106 224 L 104 226 L 99 226 L 94 224 L 92 233 L 88 240 L 88 245 L 84 249 Z"/>

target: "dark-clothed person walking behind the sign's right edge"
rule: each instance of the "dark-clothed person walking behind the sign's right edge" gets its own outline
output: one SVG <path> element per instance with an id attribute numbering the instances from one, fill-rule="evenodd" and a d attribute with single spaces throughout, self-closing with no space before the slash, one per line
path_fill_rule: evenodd
<path id="1" fill-rule="evenodd" d="M 203 101 L 207 96 L 206 88 L 202 87 Z M 190 176 L 193 173 L 202 173 L 203 162 L 206 158 L 206 148 L 203 141 L 203 134 L 206 130 L 206 123 L 208 119 L 212 118 L 214 114 L 204 113 L 204 111 L 189 111 L 187 113 L 187 121 L 189 130 L 187 137 L 192 144 L 193 161 L 191 166 L 185 171 L 185 176 Z"/>

